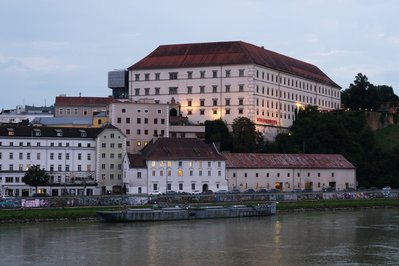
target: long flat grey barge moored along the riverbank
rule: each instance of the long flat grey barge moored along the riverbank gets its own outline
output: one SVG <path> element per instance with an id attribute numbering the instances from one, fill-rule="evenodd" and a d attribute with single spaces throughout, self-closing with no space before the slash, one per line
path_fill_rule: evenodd
<path id="1" fill-rule="evenodd" d="M 269 216 L 276 214 L 276 203 L 257 205 L 172 207 L 172 208 L 130 208 L 122 211 L 100 211 L 97 215 L 104 222 L 150 222 L 197 220 L 214 218 L 238 218 Z"/>

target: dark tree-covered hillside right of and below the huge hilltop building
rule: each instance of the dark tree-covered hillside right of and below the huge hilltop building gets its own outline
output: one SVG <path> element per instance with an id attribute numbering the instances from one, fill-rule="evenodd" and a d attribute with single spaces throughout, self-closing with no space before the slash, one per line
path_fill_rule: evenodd
<path id="1" fill-rule="evenodd" d="M 399 126 L 374 131 L 366 117 L 366 110 L 398 101 L 392 87 L 373 85 L 359 73 L 342 92 L 345 110 L 319 112 L 306 106 L 290 130 L 273 142 L 263 141 L 248 118 L 236 119 L 231 133 L 223 121 L 209 121 L 206 136 L 208 143 L 222 143 L 224 151 L 342 154 L 357 168 L 358 187 L 398 188 Z"/>

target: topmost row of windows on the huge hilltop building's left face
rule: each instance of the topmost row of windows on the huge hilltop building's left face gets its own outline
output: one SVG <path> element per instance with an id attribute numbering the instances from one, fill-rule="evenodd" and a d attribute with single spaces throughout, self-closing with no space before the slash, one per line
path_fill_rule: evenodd
<path id="1" fill-rule="evenodd" d="M 211 73 L 211 75 L 209 75 L 208 73 Z M 150 73 L 144 73 L 144 79 L 143 80 L 144 81 L 165 80 L 165 79 L 176 80 L 176 79 L 194 79 L 194 78 L 204 79 L 204 78 L 218 78 L 218 77 L 220 77 L 220 74 L 219 74 L 218 70 L 208 71 L 208 73 L 207 73 L 206 70 L 200 70 L 198 73 L 194 73 L 193 71 L 187 71 L 186 75 L 179 74 L 179 72 L 169 72 L 167 74 L 165 73 L 165 75 L 167 75 L 166 77 L 161 76 L 161 73 L 154 73 L 153 77 L 151 77 Z M 231 69 L 226 69 L 225 72 L 224 72 L 224 77 L 226 77 L 226 78 L 233 77 L 232 74 L 235 74 L 234 71 L 232 73 Z M 237 71 L 236 76 L 237 75 L 238 75 L 238 77 L 244 77 L 244 69 L 239 69 Z M 142 80 L 141 79 L 141 74 L 140 73 L 134 74 L 134 80 L 135 81 Z"/>

